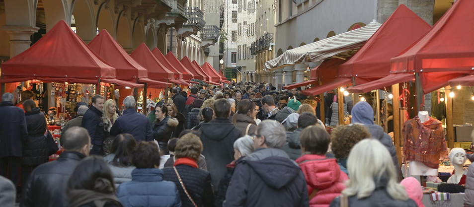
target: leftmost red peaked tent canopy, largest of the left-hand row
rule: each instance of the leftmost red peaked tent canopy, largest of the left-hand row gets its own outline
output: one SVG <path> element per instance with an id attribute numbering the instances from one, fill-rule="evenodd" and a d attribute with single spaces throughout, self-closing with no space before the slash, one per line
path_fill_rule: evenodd
<path id="1" fill-rule="evenodd" d="M 29 49 L 3 63 L 1 73 L 2 83 L 42 79 L 97 84 L 98 78 L 115 78 L 115 69 L 92 52 L 64 20 Z"/>

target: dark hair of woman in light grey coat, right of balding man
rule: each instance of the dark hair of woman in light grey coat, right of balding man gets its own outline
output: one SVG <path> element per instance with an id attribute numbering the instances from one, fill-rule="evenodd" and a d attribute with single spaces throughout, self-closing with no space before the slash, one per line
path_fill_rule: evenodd
<path id="1" fill-rule="evenodd" d="M 132 166 L 132 151 L 136 146 L 137 141 L 133 135 L 117 135 L 110 146 L 110 153 L 115 154 L 112 164 L 117 167 Z"/>

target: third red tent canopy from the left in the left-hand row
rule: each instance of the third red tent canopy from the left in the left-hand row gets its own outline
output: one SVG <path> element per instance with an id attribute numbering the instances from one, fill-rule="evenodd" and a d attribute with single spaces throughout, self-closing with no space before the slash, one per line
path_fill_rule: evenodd
<path id="1" fill-rule="evenodd" d="M 148 70 L 149 79 L 166 82 L 174 78 L 174 73 L 166 69 L 166 67 L 155 58 L 145 43 L 138 46 L 130 56 Z"/>

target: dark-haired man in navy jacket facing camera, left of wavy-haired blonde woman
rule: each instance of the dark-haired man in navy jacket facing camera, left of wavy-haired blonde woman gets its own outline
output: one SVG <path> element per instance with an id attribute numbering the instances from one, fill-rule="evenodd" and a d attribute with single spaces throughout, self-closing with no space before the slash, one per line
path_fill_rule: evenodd
<path id="1" fill-rule="evenodd" d="M 102 121 L 102 110 L 104 109 L 104 97 L 95 95 L 92 97 L 92 105 L 82 117 L 81 126 L 89 132 L 93 148 L 90 154 L 103 155 L 102 141 L 104 139 L 104 122 Z"/>

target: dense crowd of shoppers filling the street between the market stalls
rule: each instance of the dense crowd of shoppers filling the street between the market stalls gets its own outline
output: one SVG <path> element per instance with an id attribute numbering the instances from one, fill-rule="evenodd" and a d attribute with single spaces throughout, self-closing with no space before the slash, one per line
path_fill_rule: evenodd
<path id="1" fill-rule="evenodd" d="M 64 151 L 51 162 L 44 115 L 5 93 L 0 206 L 423 206 L 419 183 L 399 183 L 392 138 L 364 101 L 351 106 L 352 124 L 329 135 L 319 100 L 296 89 L 241 82 L 189 92 L 171 88 L 148 116 L 133 96 L 121 112 L 93 96 L 63 128 Z"/>

